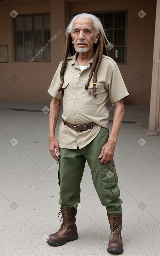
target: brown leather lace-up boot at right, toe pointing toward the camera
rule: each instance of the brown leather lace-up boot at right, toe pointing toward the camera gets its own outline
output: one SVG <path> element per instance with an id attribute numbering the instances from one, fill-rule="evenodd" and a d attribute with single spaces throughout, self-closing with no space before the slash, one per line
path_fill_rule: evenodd
<path id="1" fill-rule="evenodd" d="M 123 253 L 123 242 L 121 237 L 122 229 L 122 213 L 118 216 L 114 214 L 108 215 L 108 220 L 111 228 L 111 236 L 108 243 L 108 253 Z"/>

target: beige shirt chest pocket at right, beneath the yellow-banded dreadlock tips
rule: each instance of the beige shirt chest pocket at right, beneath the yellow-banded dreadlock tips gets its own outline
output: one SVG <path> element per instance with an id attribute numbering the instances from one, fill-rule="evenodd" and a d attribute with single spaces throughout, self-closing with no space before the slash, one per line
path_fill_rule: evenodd
<path id="1" fill-rule="evenodd" d="M 101 104 L 105 98 L 104 98 L 104 92 L 105 88 L 103 84 L 97 83 L 96 84 L 96 91 L 97 96 L 93 96 L 93 84 L 92 82 L 89 83 L 88 90 L 86 90 L 86 96 L 84 98 L 84 103 L 86 105 L 99 105 Z"/>

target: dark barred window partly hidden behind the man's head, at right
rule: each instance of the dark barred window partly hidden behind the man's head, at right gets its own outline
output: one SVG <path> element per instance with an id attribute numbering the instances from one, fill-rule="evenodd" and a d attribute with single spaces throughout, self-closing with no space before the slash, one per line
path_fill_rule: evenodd
<path id="1" fill-rule="evenodd" d="M 102 21 L 107 31 L 107 39 L 114 47 L 107 49 L 108 56 L 116 63 L 126 63 L 126 39 L 127 39 L 127 11 L 112 11 L 105 13 L 92 13 Z"/>

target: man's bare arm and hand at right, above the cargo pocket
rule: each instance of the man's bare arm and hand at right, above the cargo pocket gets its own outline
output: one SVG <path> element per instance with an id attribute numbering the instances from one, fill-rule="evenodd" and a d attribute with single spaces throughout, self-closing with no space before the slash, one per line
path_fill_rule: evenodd
<path id="1" fill-rule="evenodd" d="M 114 116 L 111 134 L 109 135 L 107 143 L 102 147 L 99 158 L 100 163 L 107 163 L 113 159 L 115 144 L 117 142 L 117 136 L 121 127 L 122 119 L 124 115 L 123 100 L 116 101 L 114 103 Z"/>

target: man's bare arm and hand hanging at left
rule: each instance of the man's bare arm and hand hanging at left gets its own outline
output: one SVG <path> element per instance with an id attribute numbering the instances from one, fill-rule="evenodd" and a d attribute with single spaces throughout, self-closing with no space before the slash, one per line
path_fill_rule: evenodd
<path id="1" fill-rule="evenodd" d="M 50 111 L 49 111 L 49 151 L 51 152 L 52 157 L 58 161 L 58 157 L 55 154 L 54 149 L 56 149 L 56 153 L 59 156 L 59 143 L 58 140 L 55 138 L 55 127 L 58 120 L 59 112 L 61 107 L 61 100 L 56 99 L 53 97 L 51 104 L 50 104 Z"/>

